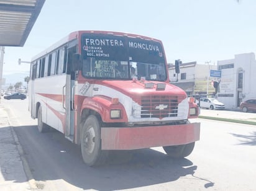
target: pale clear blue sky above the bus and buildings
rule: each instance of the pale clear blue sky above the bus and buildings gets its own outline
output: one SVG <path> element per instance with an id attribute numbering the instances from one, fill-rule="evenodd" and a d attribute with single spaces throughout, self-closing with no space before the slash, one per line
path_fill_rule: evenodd
<path id="1" fill-rule="evenodd" d="M 29 71 L 41 51 L 76 30 L 162 40 L 167 63 L 217 64 L 256 53 L 255 0 L 46 0 L 24 47 L 5 47 L 3 74 Z"/>

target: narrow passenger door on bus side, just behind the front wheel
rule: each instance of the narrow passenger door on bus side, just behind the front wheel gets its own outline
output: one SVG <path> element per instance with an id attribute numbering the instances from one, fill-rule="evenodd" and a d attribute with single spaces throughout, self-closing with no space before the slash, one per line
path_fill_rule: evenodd
<path id="1" fill-rule="evenodd" d="M 75 73 L 71 71 L 72 56 L 76 53 L 76 46 L 68 48 L 66 69 L 66 85 L 63 87 L 63 107 L 65 107 L 65 138 L 74 141 L 75 131 Z"/>

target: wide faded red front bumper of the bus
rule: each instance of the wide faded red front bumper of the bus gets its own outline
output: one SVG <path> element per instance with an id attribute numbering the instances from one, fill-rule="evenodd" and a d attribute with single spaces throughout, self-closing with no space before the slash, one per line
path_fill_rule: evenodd
<path id="1" fill-rule="evenodd" d="M 200 123 L 101 128 L 101 149 L 129 150 L 188 144 L 199 140 Z"/>

